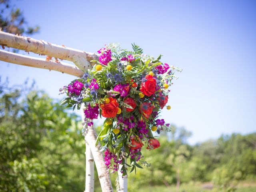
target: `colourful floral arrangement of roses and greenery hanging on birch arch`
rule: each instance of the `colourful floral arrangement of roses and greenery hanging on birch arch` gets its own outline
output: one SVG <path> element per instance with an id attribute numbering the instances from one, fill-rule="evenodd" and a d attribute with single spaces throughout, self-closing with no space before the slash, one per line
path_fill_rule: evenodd
<path id="1" fill-rule="evenodd" d="M 62 101 L 67 107 L 80 109 L 84 103 L 83 134 L 93 125 L 93 119 L 106 118 L 97 143 L 102 144 L 110 172 L 117 171 L 120 164 L 132 166 L 131 172 L 142 168 L 138 161 L 148 165 L 140 160 L 141 148 L 158 148 L 160 143 L 153 133 L 170 131 L 169 124 L 158 117 L 168 101 L 174 72 L 181 71 L 160 62 L 161 55 L 154 59 L 144 55 L 139 46 L 132 44 L 132 48 L 127 51 L 115 44 L 101 48 L 99 61 L 93 61 L 97 64 L 60 89 L 68 95 Z M 126 158 L 130 158 L 130 164 Z M 123 175 L 127 174 L 126 166 L 121 168 Z"/>

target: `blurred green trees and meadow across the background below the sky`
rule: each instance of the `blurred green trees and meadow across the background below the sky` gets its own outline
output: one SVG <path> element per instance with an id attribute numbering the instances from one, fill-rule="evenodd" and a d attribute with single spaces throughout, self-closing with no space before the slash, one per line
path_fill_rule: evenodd
<path id="1" fill-rule="evenodd" d="M 84 190 L 80 118 L 58 103 L 27 86 L 0 86 L 0 191 Z M 175 191 L 177 172 L 180 192 L 256 191 L 256 133 L 194 146 L 187 143 L 190 135 L 172 125 L 160 148 L 143 148 L 142 160 L 152 166 L 129 174 L 128 191 Z M 100 191 L 97 179 L 95 188 Z"/>

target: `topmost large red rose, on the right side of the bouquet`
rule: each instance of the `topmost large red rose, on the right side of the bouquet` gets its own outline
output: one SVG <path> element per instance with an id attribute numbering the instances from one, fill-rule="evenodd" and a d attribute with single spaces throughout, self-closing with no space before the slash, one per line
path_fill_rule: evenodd
<path id="1" fill-rule="evenodd" d="M 151 96 L 156 92 L 156 79 L 151 75 L 146 75 L 145 79 L 146 81 L 140 86 L 140 91 L 146 96 Z"/>

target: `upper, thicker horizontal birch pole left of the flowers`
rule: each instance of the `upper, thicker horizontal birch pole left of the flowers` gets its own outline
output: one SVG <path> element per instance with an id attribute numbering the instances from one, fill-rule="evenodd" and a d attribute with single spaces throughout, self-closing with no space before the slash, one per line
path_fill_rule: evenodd
<path id="1" fill-rule="evenodd" d="M 0 31 L 0 45 L 25 50 L 27 52 L 34 52 L 37 54 L 60 58 L 72 62 L 76 60 L 74 56 L 80 56 L 87 61 L 98 60 L 98 54 L 68 48 L 64 45 L 60 46 L 56 44 L 51 44 L 43 40 L 36 40 L 33 38 L 18 36 L 2 31 Z M 83 63 L 82 68 L 80 68 L 80 66 L 78 67 L 81 70 L 84 70 L 84 68 L 90 68 L 89 63 L 90 62 Z M 91 64 L 93 65 L 94 62 L 91 62 Z"/>

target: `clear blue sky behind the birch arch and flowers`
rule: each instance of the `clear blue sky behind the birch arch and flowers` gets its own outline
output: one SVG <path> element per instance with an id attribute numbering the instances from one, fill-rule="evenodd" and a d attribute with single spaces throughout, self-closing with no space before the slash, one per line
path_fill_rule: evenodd
<path id="1" fill-rule="evenodd" d="M 256 131 L 256 2 L 212 1 L 14 1 L 33 38 L 96 52 L 111 42 L 135 42 L 163 62 L 183 68 L 162 117 L 192 131 L 194 144 L 221 134 Z M 20 52 L 23 53 L 23 52 Z M 33 55 L 33 54 L 31 54 Z M 11 84 L 26 78 L 53 98 L 73 76 L 0 62 Z"/>

